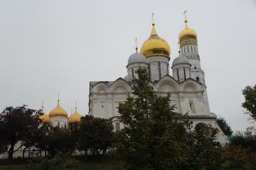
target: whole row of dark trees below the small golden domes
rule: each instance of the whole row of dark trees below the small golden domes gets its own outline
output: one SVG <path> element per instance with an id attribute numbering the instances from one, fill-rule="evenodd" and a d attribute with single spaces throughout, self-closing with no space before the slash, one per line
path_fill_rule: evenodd
<path id="1" fill-rule="evenodd" d="M 0 153 L 8 150 L 11 159 L 20 148 L 35 147 L 53 157 L 56 153 L 85 151 L 85 154 L 105 153 L 114 141 L 114 127 L 110 120 L 86 115 L 80 123 L 67 129 L 43 124 L 38 118 L 41 111 L 23 105 L 7 107 L 0 114 Z M 14 148 L 14 146 L 17 148 Z"/>

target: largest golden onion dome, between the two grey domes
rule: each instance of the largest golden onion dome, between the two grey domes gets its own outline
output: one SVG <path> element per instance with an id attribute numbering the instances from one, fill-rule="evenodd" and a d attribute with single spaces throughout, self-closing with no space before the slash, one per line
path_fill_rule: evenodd
<path id="1" fill-rule="evenodd" d="M 169 44 L 157 35 L 154 23 L 152 24 L 150 37 L 142 44 L 141 53 L 146 58 L 155 55 L 167 56 L 169 58 L 171 55 Z"/>

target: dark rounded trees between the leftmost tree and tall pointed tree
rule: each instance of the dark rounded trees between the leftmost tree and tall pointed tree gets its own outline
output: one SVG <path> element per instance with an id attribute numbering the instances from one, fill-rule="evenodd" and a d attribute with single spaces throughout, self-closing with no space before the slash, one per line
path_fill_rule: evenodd
<path id="1" fill-rule="evenodd" d="M 59 152 L 72 154 L 78 150 L 97 155 L 105 153 L 112 146 L 113 130 L 110 120 L 85 115 L 80 123 L 69 124 L 67 129 L 49 127 L 37 148 L 47 151 L 50 157 Z"/>

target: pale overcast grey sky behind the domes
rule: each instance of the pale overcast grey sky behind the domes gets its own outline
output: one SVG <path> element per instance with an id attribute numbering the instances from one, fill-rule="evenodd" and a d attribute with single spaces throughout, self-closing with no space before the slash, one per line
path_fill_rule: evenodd
<path id="1" fill-rule="evenodd" d="M 67 112 L 88 114 L 90 80 L 115 80 L 150 34 L 178 53 L 178 33 L 198 33 L 211 112 L 233 130 L 249 126 L 242 89 L 256 83 L 256 1 L 0 1 L 0 110 L 23 103 L 48 113 L 60 94 Z"/>

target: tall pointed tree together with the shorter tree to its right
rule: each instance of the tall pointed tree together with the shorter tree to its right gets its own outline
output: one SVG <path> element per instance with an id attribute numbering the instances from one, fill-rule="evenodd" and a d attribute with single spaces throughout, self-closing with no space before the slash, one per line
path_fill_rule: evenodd
<path id="1" fill-rule="evenodd" d="M 133 96 L 118 107 L 125 127 L 117 133 L 116 151 L 126 169 L 218 169 L 218 130 L 207 125 L 191 130 L 186 115 L 169 106 L 170 95 L 156 95 L 147 70 L 137 73 Z"/>

